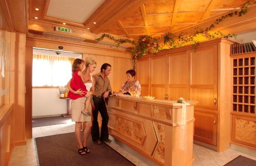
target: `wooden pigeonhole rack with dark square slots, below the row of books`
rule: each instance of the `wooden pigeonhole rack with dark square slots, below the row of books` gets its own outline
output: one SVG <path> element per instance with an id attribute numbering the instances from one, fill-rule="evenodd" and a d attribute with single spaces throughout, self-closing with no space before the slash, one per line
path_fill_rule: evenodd
<path id="1" fill-rule="evenodd" d="M 232 111 L 255 115 L 255 57 L 232 61 Z"/>

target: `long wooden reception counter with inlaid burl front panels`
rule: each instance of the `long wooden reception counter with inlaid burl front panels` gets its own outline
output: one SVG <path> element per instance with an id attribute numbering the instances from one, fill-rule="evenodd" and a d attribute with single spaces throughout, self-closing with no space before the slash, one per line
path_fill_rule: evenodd
<path id="1" fill-rule="evenodd" d="M 192 165 L 196 104 L 186 101 L 182 123 L 183 104 L 176 101 L 112 96 L 107 103 L 109 133 L 158 164 Z"/>

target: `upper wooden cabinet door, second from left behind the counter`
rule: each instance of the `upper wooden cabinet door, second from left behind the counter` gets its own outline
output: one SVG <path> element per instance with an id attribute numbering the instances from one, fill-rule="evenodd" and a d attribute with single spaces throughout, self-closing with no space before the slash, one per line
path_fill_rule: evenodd
<path id="1" fill-rule="evenodd" d="M 151 58 L 151 95 L 156 99 L 165 99 L 167 85 L 166 56 Z"/>

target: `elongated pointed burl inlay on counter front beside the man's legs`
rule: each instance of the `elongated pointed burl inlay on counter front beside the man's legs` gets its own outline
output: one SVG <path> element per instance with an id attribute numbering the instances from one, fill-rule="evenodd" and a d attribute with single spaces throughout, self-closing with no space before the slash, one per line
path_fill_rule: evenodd
<path id="1" fill-rule="evenodd" d="M 109 128 L 126 136 L 132 141 L 143 145 L 146 139 L 146 133 L 143 123 L 134 119 L 127 119 L 125 117 L 115 115 L 109 112 Z"/>

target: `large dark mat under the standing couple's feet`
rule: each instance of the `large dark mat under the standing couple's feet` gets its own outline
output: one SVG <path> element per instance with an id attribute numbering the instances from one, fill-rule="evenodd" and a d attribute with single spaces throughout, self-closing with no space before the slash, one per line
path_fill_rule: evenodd
<path id="1" fill-rule="evenodd" d="M 35 141 L 40 166 L 134 165 L 108 145 L 104 143 L 102 145 L 94 144 L 91 136 L 89 136 L 87 145 L 91 153 L 86 155 L 78 154 L 74 132 L 37 137 Z"/>

